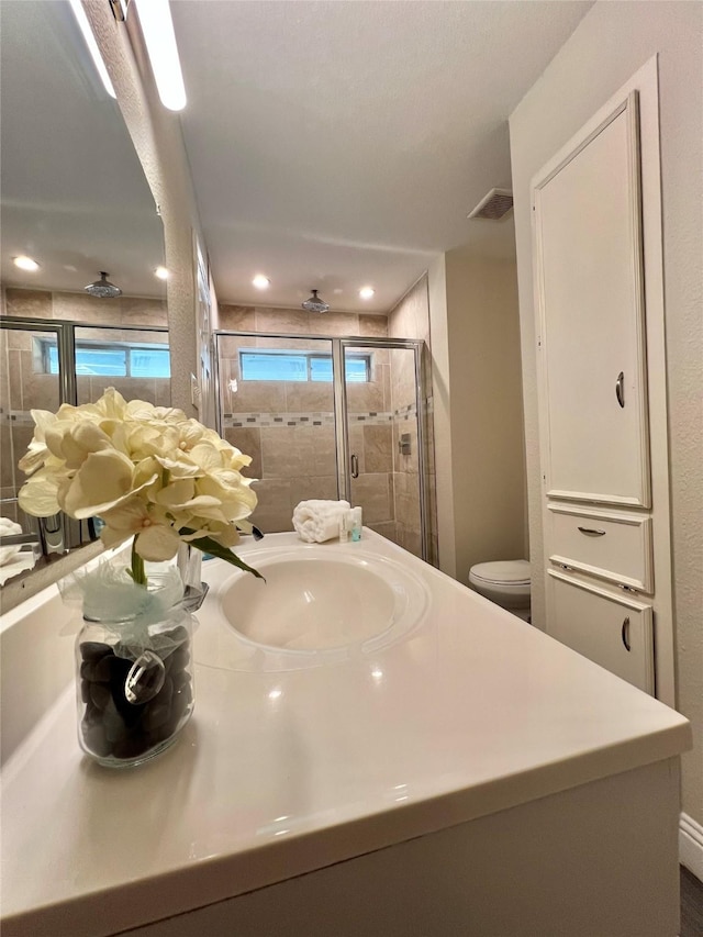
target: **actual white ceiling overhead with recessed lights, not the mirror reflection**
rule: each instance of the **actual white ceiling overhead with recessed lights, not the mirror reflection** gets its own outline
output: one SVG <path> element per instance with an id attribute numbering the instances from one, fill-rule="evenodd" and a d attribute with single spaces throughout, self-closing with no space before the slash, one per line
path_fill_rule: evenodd
<path id="1" fill-rule="evenodd" d="M 512 213 L 466 215 L 510 188 L 507 118 L 591 5 L 171 3 L 220 301 L 386 312 L 438 252 L 512 256 Z"/>

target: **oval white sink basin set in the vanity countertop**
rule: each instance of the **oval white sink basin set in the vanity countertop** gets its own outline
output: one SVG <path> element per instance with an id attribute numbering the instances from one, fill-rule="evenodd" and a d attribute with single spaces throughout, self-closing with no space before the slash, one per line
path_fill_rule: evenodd
<path id="1" fill-rule="evenodd" d="M 266 582 L 244 572 L 223 583 L 221 609 L 246 642 L 276 651 L 376 650 L 424 615 L 424 585 L 399 564 L 366 554 L 308 546 L 252 559 Z"/>

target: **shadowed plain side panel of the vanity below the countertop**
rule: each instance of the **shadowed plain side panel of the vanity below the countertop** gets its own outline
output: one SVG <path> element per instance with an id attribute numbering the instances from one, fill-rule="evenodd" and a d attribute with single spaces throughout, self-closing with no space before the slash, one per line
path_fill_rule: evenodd
<path id="1" fill-rule="evenodd" d="M 134 937 L 674 937 L 679 759 L 380 849 Z"/>

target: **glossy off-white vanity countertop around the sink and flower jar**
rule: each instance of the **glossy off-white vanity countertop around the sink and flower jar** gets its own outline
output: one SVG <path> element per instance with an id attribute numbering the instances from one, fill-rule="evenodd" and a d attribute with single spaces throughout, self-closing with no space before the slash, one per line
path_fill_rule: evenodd
<path id="1" fill-rule="evenodd" d="M 305 549 L 261 547 L 279 545 Z M 372 657 L 221 669 L 207 648 L 233 568 L 204 564 L 208 662 L 177 744 L 133 770 L 91 763 L 71 685 L 4 766 L 3 937 L 112 934 L 690 747 L 681 715 L 382 537 L 325 548 L 401 561 L 427 621 Z"/>

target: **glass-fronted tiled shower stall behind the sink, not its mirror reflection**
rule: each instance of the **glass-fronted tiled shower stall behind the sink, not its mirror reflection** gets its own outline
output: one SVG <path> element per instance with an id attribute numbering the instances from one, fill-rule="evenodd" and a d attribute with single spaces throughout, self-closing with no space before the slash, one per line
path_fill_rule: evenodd
<path id="1" fill-rule="evenodd" d="M 364 523 L 431 560 L 422 342 L 214 334 L 220 433 L 252 456 L 265 533 L 308 499 L 345 499 Z"/>

